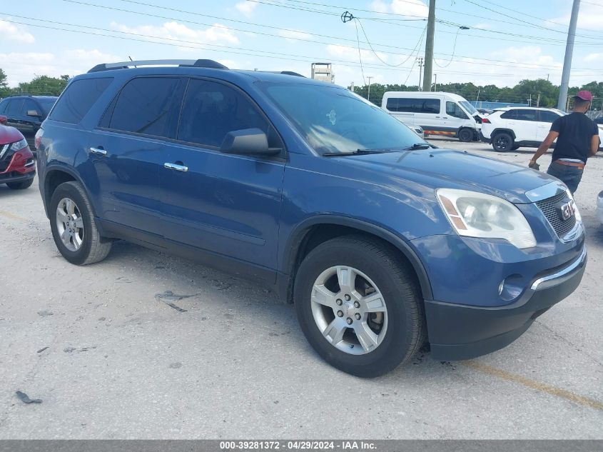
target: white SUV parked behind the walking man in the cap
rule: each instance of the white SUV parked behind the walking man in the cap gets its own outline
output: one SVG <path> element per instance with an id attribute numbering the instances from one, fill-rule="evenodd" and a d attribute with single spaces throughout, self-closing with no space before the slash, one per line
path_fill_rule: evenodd
<path id="1" fill-rule="evenodd" d="M 552 122 L 565 114 L 557 109 L 534 107 L 497 109 L 482 119 L 480 138 L 492 144 L 492 149 L 497 152 L 538 147 L 549 134 Z M 603 129 L 600 126 L 599 138 L 603 139 Z"/>

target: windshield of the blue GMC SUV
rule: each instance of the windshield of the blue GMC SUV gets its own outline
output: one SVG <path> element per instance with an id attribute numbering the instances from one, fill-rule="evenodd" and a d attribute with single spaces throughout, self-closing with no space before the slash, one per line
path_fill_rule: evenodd
<path id="1" fill-rule="evenodd" d="M 390 114 L 347 89 L 268 83 L 263 89 L 320 155 L 426 144 Z"/>

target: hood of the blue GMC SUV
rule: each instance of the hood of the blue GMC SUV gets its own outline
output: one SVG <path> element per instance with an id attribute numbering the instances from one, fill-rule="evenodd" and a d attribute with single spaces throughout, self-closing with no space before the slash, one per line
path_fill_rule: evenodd
<path id="1" fill-rule="evenodd" d="M 452 149 L 419 149 L 343 157 L 392 179 L 404 179 L 430 189 L 463 189 L 499 196 L 512 203 L 530 203 L 525 193 L 556 181 L 552 176 L 504 161 Z M 395 183 L 395 181 L 390 181 Z"/>

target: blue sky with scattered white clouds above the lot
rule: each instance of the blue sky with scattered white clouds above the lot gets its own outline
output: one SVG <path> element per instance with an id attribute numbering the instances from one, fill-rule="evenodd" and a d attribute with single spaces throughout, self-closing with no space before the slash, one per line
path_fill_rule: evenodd
<path id="1" fill-rule="evenodd" d="M 335 84 L 418 84 L 427 0 L 28 0 L 3 2 L 10 86 L 99 63 L 214 59 L 231 69 L 333 64 Z M 437 83 L 561 81 L 572 0 L 436 0 Z M 341 14 L 355 18 L 343 23 Z M 603 0 L 582 0 L 570 86 L 603 81 Z M 469 29 L 460 29 L 460 26 Z M 360 46 L 360 49 L 359 49 Z M 361 63 L 362 61 L 362 63 Z"/>

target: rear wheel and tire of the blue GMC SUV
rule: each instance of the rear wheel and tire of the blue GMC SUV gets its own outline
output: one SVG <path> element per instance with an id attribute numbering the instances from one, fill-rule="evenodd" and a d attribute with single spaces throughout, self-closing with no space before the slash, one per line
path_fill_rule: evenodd
<path id="1" fill-rule="evenodd" d="M 111 251 L 111 240 L 98 233 L 90 201 L 78 182 L 65 182 L 56 187 L 49 204 L 49 216 L 54 243 L 67 261 L 88 265 L 102 261 Z M 65 240 L 61 238 L 64 233 Z"/>

